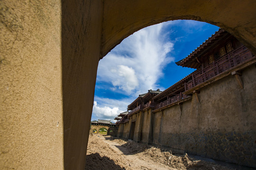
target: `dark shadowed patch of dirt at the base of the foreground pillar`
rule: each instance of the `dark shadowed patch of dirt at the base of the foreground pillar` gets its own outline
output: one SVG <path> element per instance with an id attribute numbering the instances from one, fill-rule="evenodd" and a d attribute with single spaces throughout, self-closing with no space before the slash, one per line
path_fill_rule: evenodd
<path id="1" fill-rule="evenodd" d="M 109 157 L 103 156 L 99 153 L 91 153 L 86 156 L 85 170 L 125 170 L 117 165 Z"/>

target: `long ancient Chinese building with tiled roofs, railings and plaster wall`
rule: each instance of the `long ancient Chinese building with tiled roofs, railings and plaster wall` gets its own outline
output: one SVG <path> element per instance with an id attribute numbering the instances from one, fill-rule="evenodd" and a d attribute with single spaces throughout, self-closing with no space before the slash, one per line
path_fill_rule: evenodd
<path id="1" fill-rule="evenodd" d="M 128 105 L 118 136 L 256 167 L 255 55 L 219 29 L 176 64 L 196 70 Z"/>

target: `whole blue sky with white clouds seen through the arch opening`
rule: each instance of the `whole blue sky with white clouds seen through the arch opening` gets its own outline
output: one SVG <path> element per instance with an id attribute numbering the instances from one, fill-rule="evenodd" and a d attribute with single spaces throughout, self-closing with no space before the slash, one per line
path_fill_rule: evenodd
<path id="1" fill-rule="evenodd" d="M 219 27 L 193 20 L 148 26 L 124 39 L 100 60 L 91 120 L 127 111 L 138 94 L 165 90 L 194 69 L 175 64 L 205 42 Z"/>

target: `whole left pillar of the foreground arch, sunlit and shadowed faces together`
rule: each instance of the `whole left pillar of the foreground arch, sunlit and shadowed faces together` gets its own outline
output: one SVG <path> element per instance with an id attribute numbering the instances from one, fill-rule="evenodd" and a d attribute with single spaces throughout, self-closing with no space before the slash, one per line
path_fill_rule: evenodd
<path id="1" fill-rule="evenodd" d="M 102 1 L 0 7 L 0 169 L 84 169 Z"/>

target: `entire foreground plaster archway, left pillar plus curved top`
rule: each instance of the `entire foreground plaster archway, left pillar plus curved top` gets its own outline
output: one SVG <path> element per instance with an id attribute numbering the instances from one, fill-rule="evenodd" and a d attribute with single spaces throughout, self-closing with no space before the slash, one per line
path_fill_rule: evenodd
<path id="1" fill-rule="evenodd" d="M 0 169 L 82 170 L 99 59 L 143 27 L 205 21 L 256 53 L 255 0 L 3 0 L 0 6 Z"/>

